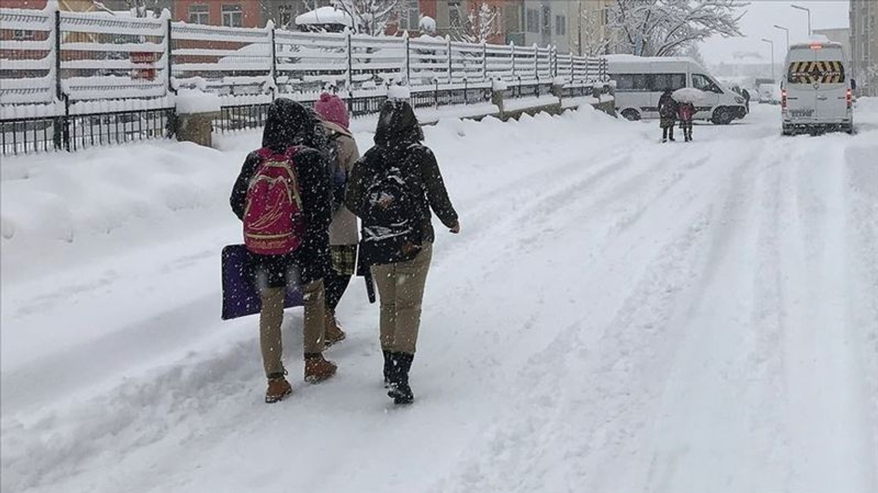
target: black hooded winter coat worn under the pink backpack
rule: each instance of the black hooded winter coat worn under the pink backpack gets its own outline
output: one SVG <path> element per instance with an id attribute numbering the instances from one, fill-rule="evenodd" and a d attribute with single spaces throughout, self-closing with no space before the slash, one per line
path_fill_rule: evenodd
<path id="1" fill-rule="evenodd" d="M 329 224 L 332 222 L 332 196 L 327 156 L 317 150 L 323 145 L 322 127 L 318 125 L 320 123 L 311 111 L 289 99 L 278 98 L 269 107 L 263 132 L 263 147 L 269 147 L 276 152 L 283 152 L 290 146 L 306 147 L 293 158 L 306 220 L 306 232 L 301 245 L 289 255 L 249 255 L 250 268 L 269 270 L 270 279 L 283 278 L 286 270 L 291 267 L 299 269 L 303 284 L 322 279 L 330 272 Z M 234 182 L 229 202 L 239 219 L 244 217 L 248 185 L 260 161 L 261 158 L 255 151 L 250 153 L 244 160 L 241 174 Z"/>

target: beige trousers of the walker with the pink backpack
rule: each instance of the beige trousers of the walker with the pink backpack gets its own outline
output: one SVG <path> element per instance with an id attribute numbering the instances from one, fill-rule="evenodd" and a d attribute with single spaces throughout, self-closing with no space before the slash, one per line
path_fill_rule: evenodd
<path id="1" fill-rule="evenodd" d="M 263 366 L 268 377 L 284 374 L 284 348 L 281 325 L 284 322 L 285 288 L 263 288 L 260 293 L 263 307 L 259 313 L 259 342 L 263 350 Z M 305 295 L 305 354 L 323 352 L 324 294 L 323 280 L 302 287 Z"/>

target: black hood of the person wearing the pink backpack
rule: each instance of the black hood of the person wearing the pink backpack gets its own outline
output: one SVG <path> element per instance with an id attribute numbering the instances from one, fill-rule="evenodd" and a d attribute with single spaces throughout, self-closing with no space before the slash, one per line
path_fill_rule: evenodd
<path id="1" fill-rule="evenodd" d="M 326 138 L 320 120 L 302 104 L 278 97 L 269 106 L 263 131 L 263 147 L 283 151 L 291 146 L 323 150 Z"/>

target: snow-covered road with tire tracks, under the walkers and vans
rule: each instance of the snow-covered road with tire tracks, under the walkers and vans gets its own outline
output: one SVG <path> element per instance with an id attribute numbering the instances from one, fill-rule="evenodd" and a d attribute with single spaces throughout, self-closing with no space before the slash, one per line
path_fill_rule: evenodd
<path id="1" fill-rule="evenodd" d="M 74 210 L 39 258 L 4 216 L 3 491 L 874 493 L 878 104 L 858 111 L 853 137 L 781 138 L 754 105 L 669 145 L 593 111 L 428 128 L 464 232 L 437 229 L 399 410 L 362 282 L 332 381 L 301 382 L 289 312 L 283 404 L 255 318 L 219 321 L 255 134 L 185 150 L 215 200 L 109 234 Z M 51 168 L 12 165 L 4 214 Z"/>

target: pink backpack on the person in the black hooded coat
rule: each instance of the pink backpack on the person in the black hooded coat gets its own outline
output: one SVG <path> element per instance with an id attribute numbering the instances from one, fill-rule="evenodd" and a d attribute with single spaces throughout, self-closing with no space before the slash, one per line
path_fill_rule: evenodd
<path id="1" fill-rule="evenodd" d="M 262 162 L 250 178 L 244 206 L 244 245 L 261 255 L 291 254 L 302 243 L 305 218 L 293 157 L 299 147 L 277 154 L 256 151 Z"/>

